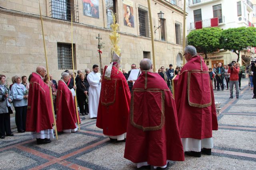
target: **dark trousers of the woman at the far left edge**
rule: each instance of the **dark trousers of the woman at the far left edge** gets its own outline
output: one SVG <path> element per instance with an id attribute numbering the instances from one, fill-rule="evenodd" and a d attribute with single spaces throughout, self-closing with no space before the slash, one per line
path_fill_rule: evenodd
<path id="1" fill-rule="evenodd" d="M 10 135 L 11 133 L 10 114 L 0 113 L 0 136 Z"/>

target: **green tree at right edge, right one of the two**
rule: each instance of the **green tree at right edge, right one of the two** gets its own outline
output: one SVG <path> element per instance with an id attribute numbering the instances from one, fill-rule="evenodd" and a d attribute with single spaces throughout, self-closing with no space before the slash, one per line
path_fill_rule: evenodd
<path id="1" fill-rule="evenodd" d="M 256 28 L 238 27 L 222 31 L 220 38 L 222 48 L 236 53 L 237 62 L 240 59 L 240 51 L 248 47 L 256 47 Z"/>

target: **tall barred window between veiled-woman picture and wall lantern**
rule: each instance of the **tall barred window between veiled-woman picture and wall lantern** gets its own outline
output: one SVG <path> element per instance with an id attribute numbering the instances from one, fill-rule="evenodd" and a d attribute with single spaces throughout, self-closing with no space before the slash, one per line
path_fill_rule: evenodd
<path id="1" fill-rule="evenodd" d="M 148 8 L 138 5 L 140 36 L 150 37 Z"/>

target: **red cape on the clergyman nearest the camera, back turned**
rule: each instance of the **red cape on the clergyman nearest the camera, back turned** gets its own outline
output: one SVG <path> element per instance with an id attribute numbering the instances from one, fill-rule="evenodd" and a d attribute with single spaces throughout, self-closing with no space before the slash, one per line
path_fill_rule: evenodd
<path id="1" fill-rule="evenodd" d="M 142 71 L 132 89 L 124 158 L 153 166 L 183 161 L 176 106 L 163 78 Z"/>

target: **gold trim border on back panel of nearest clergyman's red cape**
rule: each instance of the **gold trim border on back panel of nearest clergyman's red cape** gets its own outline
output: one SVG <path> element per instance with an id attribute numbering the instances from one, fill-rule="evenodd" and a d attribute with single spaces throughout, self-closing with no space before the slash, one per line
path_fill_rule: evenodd
<path id="1" fill-rule="evenodd" d="M 143 127 L 142 125 L 137 125 L 134 121 L 134 92 L 161 92 L 161 98 L 162 98 L 162 115 L 161 115 L 161 123 L 158 126 L 154 126 L 154 127 Z M 141 129 L 142 131 L 157 131 L 159 129 L 162 129 L 162 127 L 164 126 L 165 123 L 165 114 L 164 114 L 164 100 L 165 100 L 165 95 L 164 95 L 164 91 L 160 90 L 160 91 L 152 91 L 152 90 L 133 90 L 132 91 L 132 96 L 131 96 L 131 109 L 130 109 L 130 123 L 138 128 Z"/>

